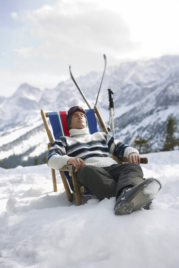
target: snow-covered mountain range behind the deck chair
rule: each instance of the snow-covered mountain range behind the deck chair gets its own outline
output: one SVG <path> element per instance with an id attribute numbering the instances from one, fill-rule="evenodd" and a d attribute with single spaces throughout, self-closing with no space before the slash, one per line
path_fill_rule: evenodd
<path id="1" fill-rule="evenodd" d="M 76 79 L 91 106 L 101 77 L 102 72 L 92 71 Z M 151 136 L 153 151 L 160 149 L 169 115 L 179 123 L 179 56 L 108 67 L 98 98 L 98 108 L 107 123 L 108 88 L 114 93 L 117 138 L 132 145 L 138 134 Z M 41 161 L 47 154 L 48 138 L 40 110 L 68 110 L 73 105 L 87 108 L 71 78 L 43 91 L 22 84 L 11 97 L 0 97 L 1 166 L 33 165 L 34 157 Z"/>

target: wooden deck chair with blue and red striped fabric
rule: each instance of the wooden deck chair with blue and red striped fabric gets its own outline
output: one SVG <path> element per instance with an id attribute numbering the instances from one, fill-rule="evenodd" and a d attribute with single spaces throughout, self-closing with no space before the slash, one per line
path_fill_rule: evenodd
<path id="1" fill-rule="evenodd" d="M 48 149 L 50 149 L 51 145 L 53 142 L 60 136 L 69 136 L 69 130 L 67 128 L 67 123 L 66 123 L 66 117 L 67 117 L 67 111 L 60 111 L 60 112 L 50 112 L 50 113 L 45 113 L 44 110 L 41 110 L 41 116 L 44 122 L 45 129 L 47 131 L 47 135 L 49 138 L 50 143 L 48 144 Z M 101 124 L 101 130 L 108 134 L 107 127 L 99 113 L 98 107 L 95 105 L 94 109 L 88 109 L 86 110 L 86 116 L 87 116 L 87 121 L 88 121 L 88 128 L 90 130 L 90 134 L 93 134 L 95 132 L 98 132 L 98 126 L 96 122 L 96 117 L 97 120 Z M 47 121 L 47 117 L 50 120 L 50 124 L 53 130 L 53 135 L 50 130 L 49 123 Z M 100 131 L 101 131 L 100 130 Z M 53 138 L 54 136 L 54 138 Z M 122 164 L 125 162 L 128 162 L 128 159 L 123 157 L 123 158 L 118 158 L 117 156 L 113 156 L 113 159 L 118 163 Z M 147 158 L 141 158 L 141 163 L 148 163 Z M 52 172 L 52 180 L 53 180 L 53 189 L 56 192 L 57 191 L 57 184 L 56 184 L 56 176 L 55 176 L 55 170 L 51 169 Z M 81 205 L 81 194 L 89 195 L 92 194 L 90 189 L 87 189 L 85 186 L 78 186 L 76 174 L 75 174 L 75 166 L 74 165 L 66 165 L 63 168 L 59 169 L 64 188 L 67 194 L 67 197 L 70 201 L 72 201 L 74 198 L 76 199 L 77 205 Z M 71 172 L 71 177 L 72 177 L 72 183 L 73 187 L 70 187 L 70 176 L 69 172 Z M 70 190 L 71 188 L 71 190 Z M 71 192 L 72 191 L 72 192 Z"/>

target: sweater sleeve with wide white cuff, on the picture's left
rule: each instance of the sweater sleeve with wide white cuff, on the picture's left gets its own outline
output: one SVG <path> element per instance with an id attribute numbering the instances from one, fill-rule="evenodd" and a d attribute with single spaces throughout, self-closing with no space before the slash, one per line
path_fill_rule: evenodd
<path id="1" fill-rule="evenodd" d="M 66 140 L 58 139 L 50 147 L 47 156 L 47 165 L 52 169 L 60 169 L 67 165 L 71 157 L 66 155 Z"/>

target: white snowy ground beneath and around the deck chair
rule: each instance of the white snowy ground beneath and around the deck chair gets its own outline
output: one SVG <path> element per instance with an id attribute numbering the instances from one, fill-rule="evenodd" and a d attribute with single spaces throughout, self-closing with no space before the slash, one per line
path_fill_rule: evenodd
<path id="1" fill-rule="evenodd" d="M 162 188 L 150 209 L 115 216 L 115 198 L 70 202 L 40 166 L 0 168 L 0 267 L 179 267 L 179 151 L 142 155 Z"/>

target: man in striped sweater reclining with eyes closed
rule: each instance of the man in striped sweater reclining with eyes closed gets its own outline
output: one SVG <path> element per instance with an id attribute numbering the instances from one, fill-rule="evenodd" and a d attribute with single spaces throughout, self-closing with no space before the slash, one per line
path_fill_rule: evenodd
<path id="1" fill-rule="evenodd" d="M 152 178 L 143 180 L 137 149 L 103 132 L 91 135 L 86 112 L 79 106 L 69 109 L 67 126 L 70 137 L 60 137 L 52 144 L 48 166 L 75 165 L 79 186 L 85 185 L 100 200 L 116 197 L 116 215 L 130 214 L 151 202 L 151 185 L 155 183 L 158 191 L 161 184 Z M 119 165 L 110 155 L 127 157 L 129 163 Z"/>

